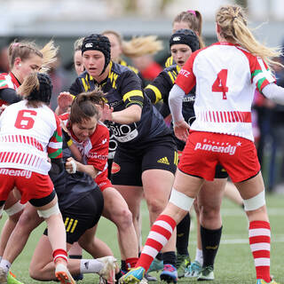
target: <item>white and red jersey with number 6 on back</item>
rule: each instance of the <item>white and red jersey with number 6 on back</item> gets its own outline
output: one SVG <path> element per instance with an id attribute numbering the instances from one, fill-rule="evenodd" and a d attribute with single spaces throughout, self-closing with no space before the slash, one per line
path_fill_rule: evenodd
<path id="1" fill-rule="evenodd" d="M 62 157 L 59 118 L 48 106 L 28 107 L 27 100 L 7 106 L 0 116 L 0 168 L 47 175 L 48 156 Z"/>

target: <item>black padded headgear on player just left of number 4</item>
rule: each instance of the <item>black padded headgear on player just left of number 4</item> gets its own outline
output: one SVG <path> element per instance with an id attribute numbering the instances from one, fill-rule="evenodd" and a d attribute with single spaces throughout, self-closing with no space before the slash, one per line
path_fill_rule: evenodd
<path id="1" fill-rule="evenodd" d="M 173 44 L 186 44 L 192 51 L 197 51 L 199 47 L 198 36 L 191 29 L 178 29 L 170 36 L 170 46 Z"/>

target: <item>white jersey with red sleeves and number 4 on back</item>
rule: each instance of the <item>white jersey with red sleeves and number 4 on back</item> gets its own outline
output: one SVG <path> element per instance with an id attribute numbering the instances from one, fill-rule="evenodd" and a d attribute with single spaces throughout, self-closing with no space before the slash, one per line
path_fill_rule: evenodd
<path id="1" fill-rule="evenodd" d="M 176 84 L 188 93 L 196 84 L 192 130 L 254 140 L 251 104 L 256 88 L 275 81 L 264 60 L 233 43 L 214 43 L 193 52 Z"/>

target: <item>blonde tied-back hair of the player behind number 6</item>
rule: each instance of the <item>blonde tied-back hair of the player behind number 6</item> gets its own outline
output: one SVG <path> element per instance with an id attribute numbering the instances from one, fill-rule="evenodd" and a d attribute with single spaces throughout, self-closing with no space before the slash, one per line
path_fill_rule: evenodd
<path id="1" fill-rule="evenodd" d="M 35 42 L 14 41 L 10 44 L 8 49 L 10 68 L 14 66 L 15 59 L 18 57 L 24 61 L 31 55 L 37 55 L 43 59 L 41 72 L 45 73 L 51 68 L 51 63 L 57 60 L 58 50 L 59 47 L 55 47 L 52 40 L 49 43 L 46 43 L 42 49 L 38 47 Z"/>

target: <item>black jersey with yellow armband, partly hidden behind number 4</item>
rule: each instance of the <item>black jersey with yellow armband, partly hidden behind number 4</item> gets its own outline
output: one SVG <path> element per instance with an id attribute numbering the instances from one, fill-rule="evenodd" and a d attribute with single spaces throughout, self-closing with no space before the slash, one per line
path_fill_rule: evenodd
<path id="1" fill-rule="evenodd" d="M 162 70 L 162 72 L 154 79 L 152 83 L 149 83 L 145 92 L 149 99 L 151 99 L 152 103 L 157 103 L 160 100 L 163 100 L 163 105 L 160 110 L 162 116 L 165 117 L 170 114 L 169 107 L 169 95 L 172 86 L 174 85 L 177 75 L 180 71 L 180 67 L 177 65 L 172 65 Z M 192 124 L 195 118 L 193 104 L 195 100 L 195 87 L 189 94 L 185 95 L 183 99 L 183 107 L 182 113 L 185 118 L 185 122 L 188 124 Z M 172 125 L 171 125 L 172 127 Z M 182 143 L 182 147 L 184 143 L 176 138 L 178 150 L 180 150 L 180 143 Z"/>

